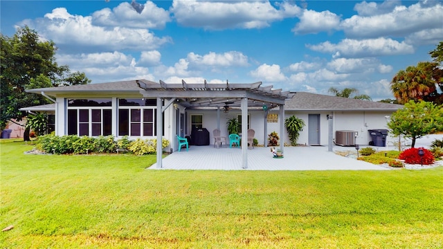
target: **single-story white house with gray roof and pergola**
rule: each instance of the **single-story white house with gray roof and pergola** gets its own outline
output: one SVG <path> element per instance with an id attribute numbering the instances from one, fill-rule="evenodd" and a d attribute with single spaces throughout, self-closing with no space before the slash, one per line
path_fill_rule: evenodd
<path id="1" fill-rule="evenodd" d="M 58 136 L 154 138 L 161 133 L 175 151 L 176 136 L 192 137 L 193 129 L 206 128 L 210 141 L 213 129 L 217 128 L 221 136 L 227 137 L 226 121 L 230 118 L 238 118 L 243 134 L 254 129 L 259 144 L 266 146 L 271 131 L 277 131 L 281 140 L 289 144 L 284 118 L 292 115 L 307 124 L 300 133 L 300 144 L 327 145 L 336 139 L 336 131 L 345 130 L 355 131 L 356 143 L 365 145 L 371 140 L 368 130 L 386 129 L 386 117 L 402 107 L 314 93 L 282 92 L 261 84 L 206 81 L 204 84 L 160 81 L 159 84 L 131 80 L 31 89 L 29 93 L 44 95 L 54 102 L 53 108 L 45 105 L 21 110 L 53 112 Z"/>

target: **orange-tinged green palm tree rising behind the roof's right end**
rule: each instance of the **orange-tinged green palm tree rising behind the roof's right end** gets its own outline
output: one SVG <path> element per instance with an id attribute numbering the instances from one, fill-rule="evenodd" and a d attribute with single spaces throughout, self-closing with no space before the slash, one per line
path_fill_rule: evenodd
<path id="1" fill-rule="evenodd" d="M 424 100 L 436 91 L 433 77 L 433 62 L 419 62 L 417 66 L 408 66 L 400 70 L 393 78 L 390 89 L 400 104 L 409 100 Z"/>

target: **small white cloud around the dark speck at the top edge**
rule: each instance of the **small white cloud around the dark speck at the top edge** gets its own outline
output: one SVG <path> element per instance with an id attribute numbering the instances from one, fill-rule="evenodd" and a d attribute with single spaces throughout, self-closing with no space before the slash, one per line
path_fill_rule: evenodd
<path id="1" fill-rule="evenodd" d="M 157 7 L 152 1 L 146 1 L 143 12 L 138 14 L 128 2 L 120 3 L 116 8 L 104 8 L 93 12 L 91 23 L 95 26 L 125 26 L 128 28 L 164 28 L 170 15 L 167 10 Z"/>

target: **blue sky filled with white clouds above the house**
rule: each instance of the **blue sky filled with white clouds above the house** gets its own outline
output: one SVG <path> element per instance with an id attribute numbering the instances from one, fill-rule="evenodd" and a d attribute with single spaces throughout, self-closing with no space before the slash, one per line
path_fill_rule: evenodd
<path id="1" fill-rule="evenodd" d="M 0 8 L 3 35 L 30 26 L 55 42 L 58 64 L 92 83 L 261 81 L 392 99 L 395 73 L 431 61 L 443 41 L 443 1 L 2 0 Z"/>

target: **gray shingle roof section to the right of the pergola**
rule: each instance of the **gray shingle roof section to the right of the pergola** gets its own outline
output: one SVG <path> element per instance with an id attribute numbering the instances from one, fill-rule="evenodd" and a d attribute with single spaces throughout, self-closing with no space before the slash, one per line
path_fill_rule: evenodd
<path id="1" fill-rule="evenodd" d="M 293 111 L 397 111 L 401 104 L 356 100 L 316 93 L 297 92 L 284 109 Z"/>

